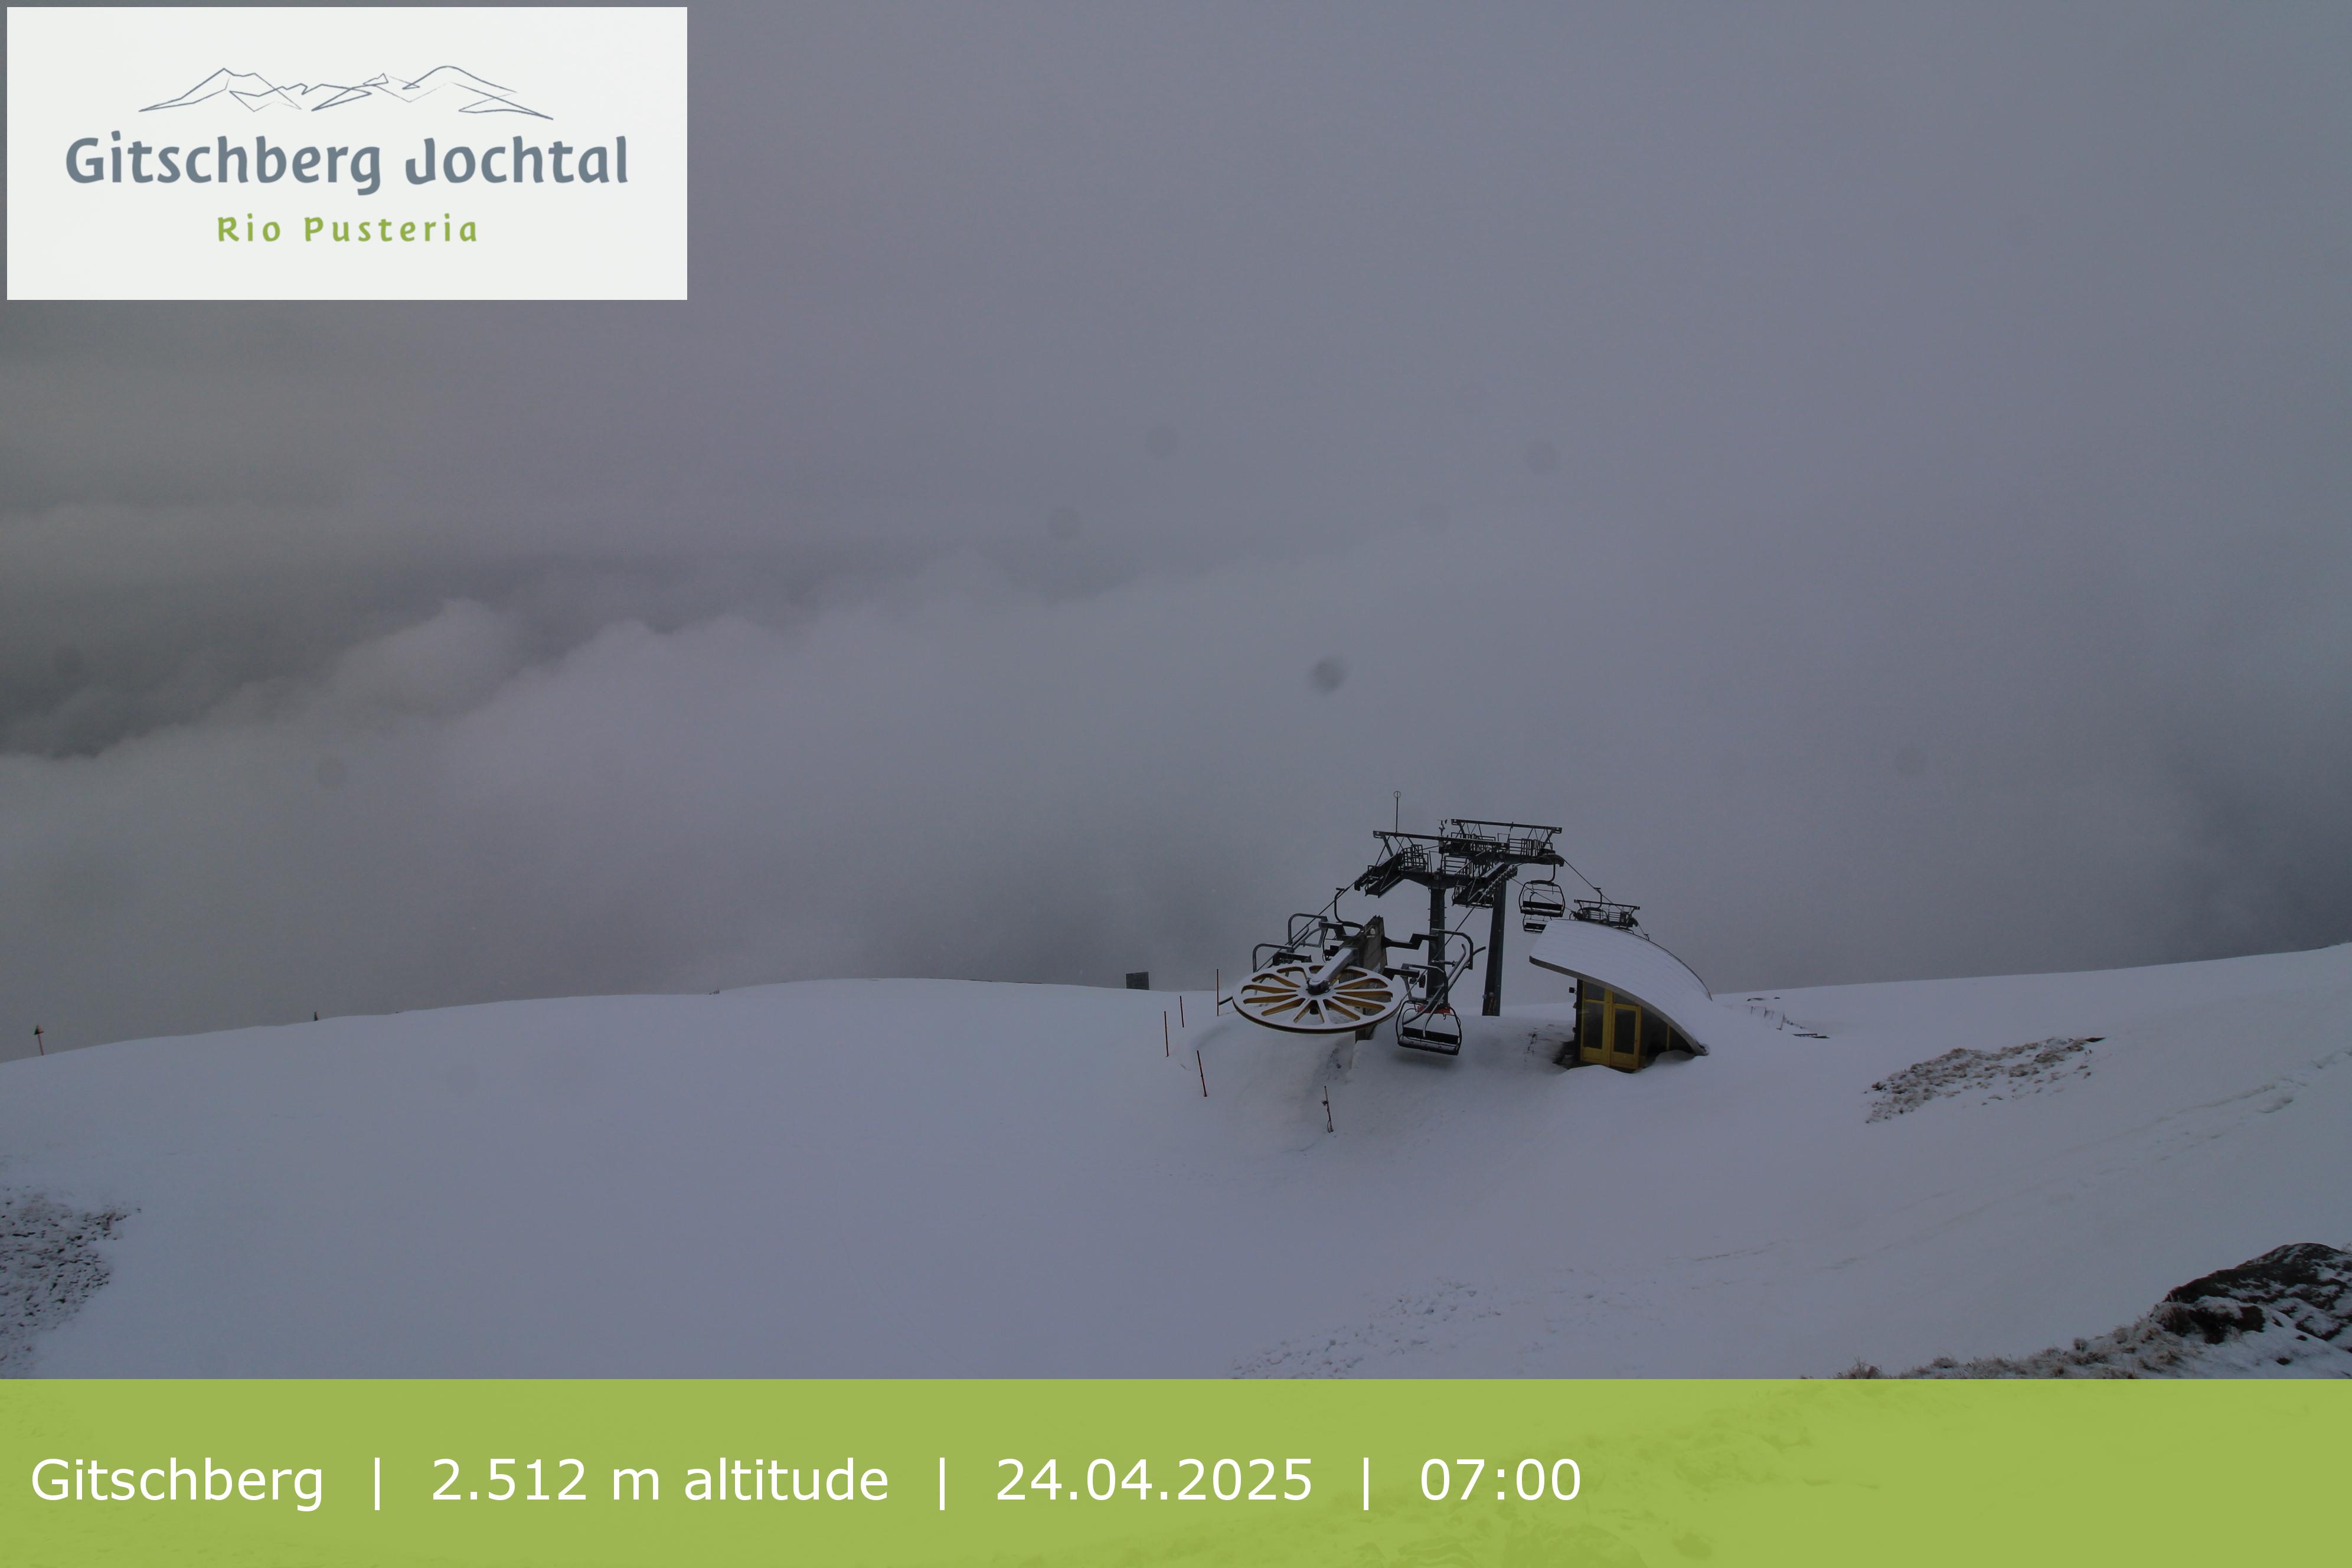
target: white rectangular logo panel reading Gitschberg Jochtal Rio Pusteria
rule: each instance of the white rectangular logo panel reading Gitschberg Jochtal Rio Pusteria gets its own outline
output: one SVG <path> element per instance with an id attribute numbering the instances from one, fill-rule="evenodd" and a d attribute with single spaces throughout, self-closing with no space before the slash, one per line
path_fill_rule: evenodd
<path id="1" fill-rule="evenodd" d="M 687 14 L 12 9 L 7 244 L 9 299 L 684 299 Z"/>

